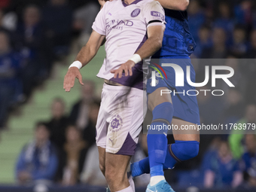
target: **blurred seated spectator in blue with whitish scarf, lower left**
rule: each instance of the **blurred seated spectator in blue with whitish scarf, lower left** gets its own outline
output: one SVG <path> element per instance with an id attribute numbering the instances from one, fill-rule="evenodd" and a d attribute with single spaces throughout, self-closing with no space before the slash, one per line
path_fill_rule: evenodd
<path id="1" fill-rule="evenodd" d="M 23 148 L 17 160 L 16 178 L 19 184 L 32 184 L 40 180 L 53 181 L 58 159 L 49 136 L 47 126 L 38 123 L 34 141 Z"/>

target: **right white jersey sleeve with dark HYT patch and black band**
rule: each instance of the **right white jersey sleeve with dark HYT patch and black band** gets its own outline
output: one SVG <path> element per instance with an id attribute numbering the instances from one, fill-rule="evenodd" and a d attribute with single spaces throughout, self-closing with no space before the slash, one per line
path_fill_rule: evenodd
<path id="1" fill-rule="evenodd" d="M 159 2 L 149 2 L 144 8 L 145 21 L 148 26 L 166 26 L 165 13 Z"/>

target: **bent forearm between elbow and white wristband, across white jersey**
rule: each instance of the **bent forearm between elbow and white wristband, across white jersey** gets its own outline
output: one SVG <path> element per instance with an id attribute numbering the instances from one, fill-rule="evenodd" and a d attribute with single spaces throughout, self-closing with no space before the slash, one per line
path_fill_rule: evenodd
<path id="1" fill-rule="evenodd" d="M 146 59 L 154 55 L 157 50 L 160 50 L 160 48 L 162 47 L 162 41 L 163 38 L 160 38 L 158 36 L 148 38 L 148 40 L 145 41 L 145 44 L 143 44 L 136 53 L 139 54 L 142 59 Z"/>

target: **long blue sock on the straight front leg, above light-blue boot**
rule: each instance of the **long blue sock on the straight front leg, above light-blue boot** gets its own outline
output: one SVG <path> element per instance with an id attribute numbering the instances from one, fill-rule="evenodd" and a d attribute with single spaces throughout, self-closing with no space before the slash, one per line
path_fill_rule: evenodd
<path id="1" fill-rule="evenodd" d="M 172 122 L 173 111 L 170 102 L 163 102 L 152 111 L 153 120 L 151 129 L 148 130 L 148 157 L 151 177 L 163 175 L 163 163 L 166 159 L 167 149 L 167 126 Z"/>

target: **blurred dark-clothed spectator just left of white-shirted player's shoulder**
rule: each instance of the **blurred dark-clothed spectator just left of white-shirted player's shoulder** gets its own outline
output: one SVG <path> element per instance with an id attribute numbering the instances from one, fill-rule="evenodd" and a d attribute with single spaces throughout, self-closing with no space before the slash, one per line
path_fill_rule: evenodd
<path id="1" fill-rule="evenodd" d="M 75 29 L 81 30 L 81 35 L 78 39 L 78 43 L 80 46 L 84 46 L 84 44 L 86 44 L 90 38 L 93 22 L 96 15 L 99 13 L 99 3 L 92 0 L 86 0 L 81 2 L 84 2 L 85 5 L 81 5 L 75 9 L 74 21 Z"/>

